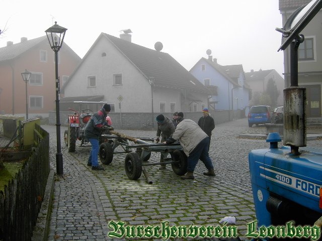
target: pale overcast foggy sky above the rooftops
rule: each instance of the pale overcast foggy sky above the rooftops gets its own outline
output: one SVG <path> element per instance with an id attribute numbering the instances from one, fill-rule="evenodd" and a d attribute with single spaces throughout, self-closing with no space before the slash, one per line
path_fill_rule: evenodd
<path id="1" fill-rule="evenodd" d="M 283 52 L 278 0 L 0 0 L 0 47 L 45 35 L 55 21 L 67 28 L 64 43 L 83 58 L 99 35 L 119 37 L 174 57 L 187 70 L 212 51 L 220 65 L 275 69 L 282 77 Z M 48 43 L 49 44 L 49 43 Z"/>

